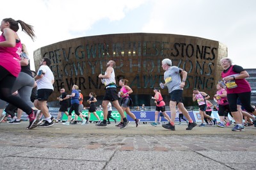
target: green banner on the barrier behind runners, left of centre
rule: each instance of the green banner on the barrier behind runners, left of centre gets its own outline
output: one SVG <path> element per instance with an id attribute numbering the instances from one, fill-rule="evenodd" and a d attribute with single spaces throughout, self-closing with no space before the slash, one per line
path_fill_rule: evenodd
<path id="1" fill-rule="evenodd" d="M 85 115 L 85 116 L 88 116 L 88 110 L 83 110 L 82 111 L 82 114 Z M 96 114 L 99 116 L 100 120 L 103 120 L 104 116 L 103 116 L 103 111 L 96 111 Z M 124 112 L 125 116 L 126 116 L 126 112 Z M 121 116 L 119 114 L 118 111 L 112 111 L 111 113 L 111 116 L 113 118 L 116 119 L 116 121 L 121 121 Z M 75 112 L 73 111 L 72 112 L 72 118 L 75 118 Z M 68 117 L 66 114 L 63 114 L 63 118 L 62 120 L 68 120 Z M 77 118 L 78 121 L 81 121 L 81 118 Z M 94 116 L 93 113 L 91 113 L 91 117 L 90 117 L 90 120 L 89 121 L 98 121 L 97 118 Z M 114 121 L 114 120 L 111 120 L 109 119 L 109 121 Z"/>

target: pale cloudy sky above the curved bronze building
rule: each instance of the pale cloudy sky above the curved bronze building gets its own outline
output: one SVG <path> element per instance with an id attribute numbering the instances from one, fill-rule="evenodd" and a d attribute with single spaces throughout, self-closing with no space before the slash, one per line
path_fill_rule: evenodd
<path id="1" fill-rule="evenodd" d="M 36 40 L 18 31 L 33 65 L 33 51 L 52 43 L 93 35 L 166 33 L 216 40 L 228 58 L 256 68 L 255 0 L 9 0 L 0 16 L 34 27 Z"/>

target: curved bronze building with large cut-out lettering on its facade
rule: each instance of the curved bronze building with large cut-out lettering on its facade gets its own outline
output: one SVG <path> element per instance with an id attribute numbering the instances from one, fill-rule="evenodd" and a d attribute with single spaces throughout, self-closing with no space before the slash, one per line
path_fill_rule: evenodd
<path id="1" fill-rule="evenodd" d="M 95 92 L 100 105 L 104 86 L 98 75 L 105 72 L 110 59 L 116 61 L 116 82 L 120 78 L 129 80 L 134 105 L 153 106 L 152 88 L 164 82 L 161 68 L 164 58 L 172 59 L 173 65 L 188 72 L 184 104 L 189 106 L 195 105 L 191 99 L 193 88 L 211 97 L 215 94 L 222 70 L 219 61 L 227 57 L 227 46 L 195 36 L 127 33 L 85 36 L 41 47 L 34 52 L 36 70 L 40 59 L 45 57 L 51 59 L 55 76 L 54 93 L 49 99 L 52 106 L 60 95 L 59 89 L 65 88 L 70 93 L 72 84 L 79 86 L 85 99 L 91 91 Z M 161 93 L 168 102 L 168 90 L 162 89 Z"/>

